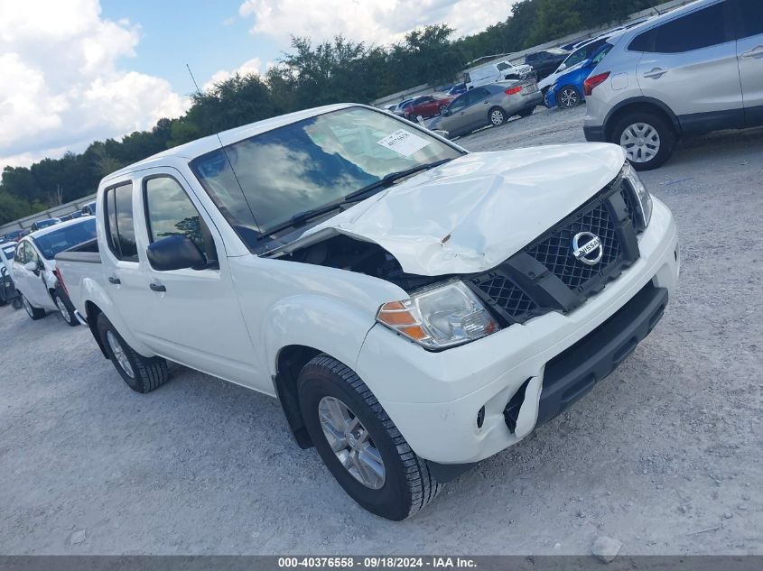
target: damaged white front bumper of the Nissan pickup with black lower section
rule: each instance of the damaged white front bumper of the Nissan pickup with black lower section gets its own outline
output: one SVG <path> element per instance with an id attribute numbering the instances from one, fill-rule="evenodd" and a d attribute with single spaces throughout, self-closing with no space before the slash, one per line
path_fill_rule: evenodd
<path id="1" fill-rule="evenodd" d="M 656 306 L 648 300 L 647 309 L 639 313 L 645 317 L 633 327 L 625 323 L 617 335 L 609 332 L 624 343 L 605 343 L 603 350 L 593 352 L 592 362 L 576 365 L 559 357 L 609 318 L 617 318 L 647 284 L 665 297 L 675 290 L 675 223 L 665 205 L 659 200 L 654 205 L 651 224 L 639 239 L 637 262 L 567 315 L 548 313 L 440 353 L 427 352 L 386 327 L 371 328 L 356 370 L 416 454 L 444 465 L 493 456 L 526 437 L 538 420 L 553 418 L 579 398 L 592 386 L 591 374 L 600 380 L 628 355 L 654 327 L 665 299 L 655 301 Z M 551 382 L 554 375 L 558 378 Z M 511 430 L 504 411 L 520 388 L 524 394 Z"/>

